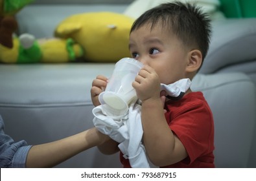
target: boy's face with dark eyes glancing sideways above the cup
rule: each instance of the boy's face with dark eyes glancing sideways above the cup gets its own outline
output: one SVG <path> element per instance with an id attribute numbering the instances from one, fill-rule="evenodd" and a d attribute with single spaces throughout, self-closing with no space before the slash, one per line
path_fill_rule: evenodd
<path id="1" fill-rule="evenodd" d="M 132 58 L 152 67 L 161 83 L 170 84 L 186 78 L 189 50 L 168 28 L 143 25 L 130 34 Z"/>

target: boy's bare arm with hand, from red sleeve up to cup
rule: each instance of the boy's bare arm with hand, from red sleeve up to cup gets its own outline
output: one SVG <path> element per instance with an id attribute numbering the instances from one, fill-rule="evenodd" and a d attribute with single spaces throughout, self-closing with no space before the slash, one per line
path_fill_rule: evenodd
<path id="1" fill-rule="evenodd" d="M 133 86 L 141 100 L 143 143 L 150 161 L 157 166 L 174 164 L 187 157 L 180 140 L 172 133 L 160 98 L 160 81 L 154 69 L 143 67 Z"/>

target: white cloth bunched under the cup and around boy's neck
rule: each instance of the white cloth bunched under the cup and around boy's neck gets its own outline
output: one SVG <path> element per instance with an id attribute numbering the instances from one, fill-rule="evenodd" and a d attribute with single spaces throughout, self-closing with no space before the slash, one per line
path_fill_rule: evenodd
<path id="1" fill-rule="evenodd" d="M 182 92 L 187 91 L 190 85 L 189 79 L 183 79 L 170 85 L 161 84 L 161 89 L 165 90 L 169 96 L 178 97 Z M 120 116 L 108 116 L 102 108 L 102 105 L 99 105 L 93 109 L 95 116 L 93 123 L 101 133 L 119 142 L 119 149 L 124 154 L 124 158 L 129 159 L 131 167 L 156 167 L 146 156 L 143 145 L 141 105 L 133 103 L 128 112 Z"/>

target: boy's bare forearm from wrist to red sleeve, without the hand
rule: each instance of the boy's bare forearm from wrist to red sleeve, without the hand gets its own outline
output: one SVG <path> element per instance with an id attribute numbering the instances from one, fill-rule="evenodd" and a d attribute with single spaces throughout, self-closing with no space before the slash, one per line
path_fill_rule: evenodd
<path id="1" fill-rule="evenodd" d="M 146 153 L 153 164 L 170 165 L 187 157 L 185 147 L 172 133 L 165 120 L 160 98 L 143 101 L 141 121 Z"/>

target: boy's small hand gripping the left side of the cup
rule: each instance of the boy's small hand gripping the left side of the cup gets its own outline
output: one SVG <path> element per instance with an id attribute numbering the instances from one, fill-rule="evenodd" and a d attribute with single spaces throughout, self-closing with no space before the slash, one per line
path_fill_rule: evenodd
<path id="1" fill-rule="evenodd" d="M 93 105 L 100 105 L 99 94 L 106 89 L 108 83 L 108 78 L 105 76 L 97 76 L 95 80 L 93 80 L 91 87 L 91 101 L 93 101 Z"/>

